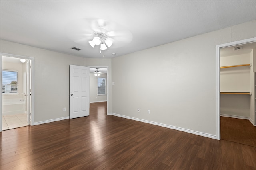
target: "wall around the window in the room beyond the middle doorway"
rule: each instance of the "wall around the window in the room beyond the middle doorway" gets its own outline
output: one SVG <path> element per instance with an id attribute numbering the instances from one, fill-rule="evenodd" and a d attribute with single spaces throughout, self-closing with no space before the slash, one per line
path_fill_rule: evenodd
<path id="1" fill-rule="evenodd" d="M 100 74 L 98 77 L 107 78 L 107 74 Z M 90 73 L 90 103 L 107 101 L 107 95 L 98 95 L 98 79 L 94 73 Z"/>

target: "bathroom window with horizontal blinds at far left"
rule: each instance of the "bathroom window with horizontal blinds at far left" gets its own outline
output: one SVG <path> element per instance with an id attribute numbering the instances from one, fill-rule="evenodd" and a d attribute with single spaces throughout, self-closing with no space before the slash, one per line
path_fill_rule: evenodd
<path id="1" fill-rule="evenodd" d="M 3 70 L 2 72 L 2 92 L 17 93 L 18 92 L 18 71 Z"/>

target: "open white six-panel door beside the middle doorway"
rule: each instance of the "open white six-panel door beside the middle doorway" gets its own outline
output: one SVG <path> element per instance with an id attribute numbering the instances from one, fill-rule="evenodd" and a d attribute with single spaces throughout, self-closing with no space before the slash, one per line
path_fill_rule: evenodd
<path id="1" fill-rule="evenodd" d="M 90 111 L 89 67 L 70 65 L 69 118 L 88 116 Z"/>

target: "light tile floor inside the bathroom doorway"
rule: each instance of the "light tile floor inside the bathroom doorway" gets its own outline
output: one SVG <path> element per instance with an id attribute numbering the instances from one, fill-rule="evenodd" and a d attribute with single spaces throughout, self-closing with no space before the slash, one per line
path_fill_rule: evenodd
<path id="1" fill-rule="evenodd" d="M 28 126 L 27 115 L 25 113 L 16 114 L 16 115 L 3 115 L 2 125 L 3 125 L 3 130 Z"/>

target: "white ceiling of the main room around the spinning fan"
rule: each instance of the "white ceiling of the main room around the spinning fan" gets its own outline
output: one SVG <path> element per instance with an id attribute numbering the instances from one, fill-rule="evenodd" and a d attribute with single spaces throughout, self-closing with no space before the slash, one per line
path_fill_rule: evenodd
<path id="1" fill-rule="evenodd" d="M 92 25 L 88 20 L 95 18 L 108 21 L 112 27 L 108 25 L 107 31 L 132 35 L 132 39 L 113 38 L 112 47 L 104 51 L 105 58 L 112 58 L 256 20 L 256 1 L 1 0 L 0 38 L 80 57 L 102 58 L 99 47 L 92 48 L 88 43 L 94 31 L 89 29 Z"/>

